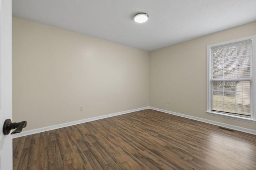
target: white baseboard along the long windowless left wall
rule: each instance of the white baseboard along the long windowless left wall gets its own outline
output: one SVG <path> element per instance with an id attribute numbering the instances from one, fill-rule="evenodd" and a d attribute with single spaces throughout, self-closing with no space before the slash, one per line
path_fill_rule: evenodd
<path id="1" fill-rule="evenodd" d="M 92 118 L 88 118 L 88 119 L 72 121 L 72 122 L 62 123 L 62 124 L 59 124 L 59 125 L 53 125 L 53 126 L 48 126 L 48 127 L 42 127 L 42 128 L 39 128 L 39 129 L 33 129 L 33 130 L 30 130 L 30 131 L 24 131 L 24 132 L 21 132 L 21 133 L 16 133 L 16 134 L 12 135 L 12 138 L 23 137 L 23 136 L 32 135 L 32 134 L 35 134 L 35 133 L 50 131 L 50 130 L 59 129 L 59 128 L 62 128 L 62 127 L 77 125 L 77 124 L 80 124 L 80 123 L 86 123 L 86 122 L 89 122 L 89 121 L 95 121 L 95 120 L 104 119 L 104 118 L 108 118 L 108 117 L 113 117 L 113 116 L 117 116 L 117 115 L 123 115 L 123 114 L 126 114 L 126 113 L 132 113 L 134 111 L 140 111 L 140 110 L 144 110 L 144 109 L 148 109 L 148 108 L 149 107 L 141 107 L 141 108 L 138 108 L 138 109 L 121 111 L 121 112 L 118 112 L 118 113 L 112 113 L 112 114 L 109 114 L 109 115 L 92 117 Z"/>

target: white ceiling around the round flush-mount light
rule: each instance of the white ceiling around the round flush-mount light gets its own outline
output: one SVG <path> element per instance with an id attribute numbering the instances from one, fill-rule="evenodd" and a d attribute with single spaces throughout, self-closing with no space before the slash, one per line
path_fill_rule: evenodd
<path id="1" fill-rule="evenodd" d="M 256 0 L 12 0 L 12 15 L 153 51 L 256 21 Z"/>

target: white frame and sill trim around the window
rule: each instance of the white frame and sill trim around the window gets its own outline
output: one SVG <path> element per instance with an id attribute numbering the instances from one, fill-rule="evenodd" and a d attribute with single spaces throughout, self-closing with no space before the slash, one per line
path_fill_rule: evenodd
<path id="1" fill-rule="evenodd" d="M 252 81 L 251 81 L 251 116 L 244 117 L 240 115 L 233 115 L 232 113 L 223 113 L 218 111 L 211 110 L 211 59 L 212 59 L 212 47 L 228 45 L 231 43 L 238 43 L 240 41 L 252 40 Z M 216 43 L 212 45 L 207 45 L 207 110 L 206 113 L 210 115 L 216 115 L 220 117 L 226 117 L 230 119 L 242 120 L 251 123 L 256 123 L 256 35 L 252 35 L 249 37 L 243 37 L 239 39 L 234 39 L 230 41 L 225 41 L 221 43 Z"/>

